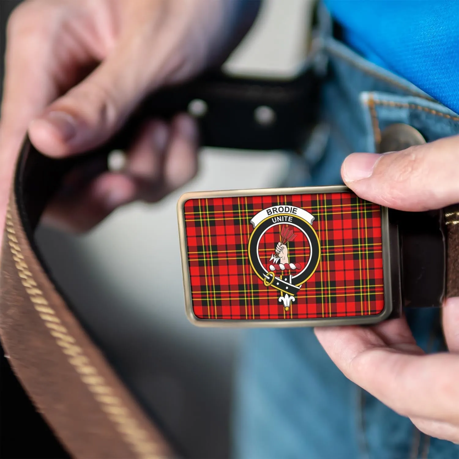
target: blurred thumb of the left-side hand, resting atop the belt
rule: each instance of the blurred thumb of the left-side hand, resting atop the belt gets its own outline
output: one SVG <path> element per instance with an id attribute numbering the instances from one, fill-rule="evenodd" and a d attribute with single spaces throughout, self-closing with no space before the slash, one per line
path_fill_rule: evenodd
<path id="1" fill-rule="evenodd" d="M 131 50 L 132 51 L 132 50 Z M 113 52 L 81 83 L 48 106 L 29 124 L 34 146 L 54 157 L 102 144 L 123 125 L 149 92 L 150 79 L 140 71 L 137 53 Z"/>

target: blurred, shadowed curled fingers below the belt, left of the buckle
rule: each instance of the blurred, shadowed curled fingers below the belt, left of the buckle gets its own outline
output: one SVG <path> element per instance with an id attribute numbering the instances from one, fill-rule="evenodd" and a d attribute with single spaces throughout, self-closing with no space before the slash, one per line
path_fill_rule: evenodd
<path id="1" fill-rule="evenodd" d="M 77 180 L 72 180 L 73 192 L 58 196 L 46 209 L 43 222 L 67 231 L 87 231 L 119 206 L 136 199 L 156 202 L 183 184 L 196 171 L 197 126 L 188 118 L 177 116 L 171 128 L 162 121 L 147 122 L 128 151 L 123 171 L 104 173 L 83 190 L 78 188 Z M 170 132 L 173 135 L 168 143 Z M 180 156 L 183 150 L 185 158 L 180 167 L 186 170 L 179 171 L 178 178 L 175 170 L 170 171 L 170 180 L 166 177 L 166 158 L 171 154 Z M 84 179 L 84 171 L 76 172 L 78 179 Z"/>

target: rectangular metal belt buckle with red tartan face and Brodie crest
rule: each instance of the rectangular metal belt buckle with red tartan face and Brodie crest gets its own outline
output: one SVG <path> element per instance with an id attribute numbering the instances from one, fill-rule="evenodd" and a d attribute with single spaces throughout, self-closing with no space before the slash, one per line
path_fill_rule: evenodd
<path id="1" fill-rule="evenodd" d="M 444 264 L 435 214 L 423 213 L 416 234 L 416 214 L 407 220 L 346 186 L 186 193 L 177 210 L 195 325 L 374 324 L 398 317 L 414 297 L 441 304 L 444 278 L 419 291 L 416 272 L 403 267 L 413 254 L 414 271 Z"/>

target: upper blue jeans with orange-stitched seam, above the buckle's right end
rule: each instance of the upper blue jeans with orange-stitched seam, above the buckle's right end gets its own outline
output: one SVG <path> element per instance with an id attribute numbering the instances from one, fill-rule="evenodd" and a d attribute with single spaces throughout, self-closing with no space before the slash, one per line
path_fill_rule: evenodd
<path id="1" fill-rule="evenodd" d="M 325 30 L 325 32 L 324 32 Z M 339 168 L 354 151 L 377 151 L 381 132 L 394 123 L 417 129 L 427 142 L 459 134 L 459 116 L 409 81 L 359 56 L 322 27 L 319 61 L 327 71 L 321 86 L 319 125 L 303 157 L 309 178 L 302 184 L 341 183 Z M 298 182 L 297 182 L 298 183 Z"/>

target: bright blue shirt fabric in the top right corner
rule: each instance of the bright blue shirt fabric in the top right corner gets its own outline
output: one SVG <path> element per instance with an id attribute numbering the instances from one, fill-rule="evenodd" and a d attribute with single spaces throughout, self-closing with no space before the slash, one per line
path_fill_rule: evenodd
<path id="1" fill-rule="evenodd" d="M 458 0 L 325 0 L 348 45 L 459 113 Z"/>

